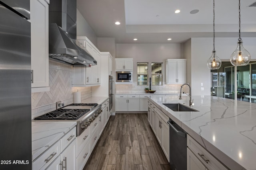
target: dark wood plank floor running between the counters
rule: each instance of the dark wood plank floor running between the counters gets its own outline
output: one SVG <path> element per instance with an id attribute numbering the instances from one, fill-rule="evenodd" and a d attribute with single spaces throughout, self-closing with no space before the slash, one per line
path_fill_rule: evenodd
<path id="1" fill-rule="evenodd" d="M 170 170 L 146 113 L 111 116 L 84 170 Z"/>

